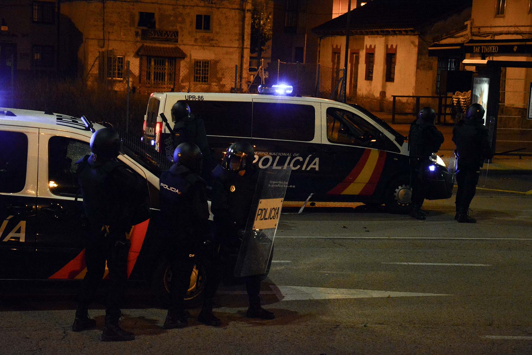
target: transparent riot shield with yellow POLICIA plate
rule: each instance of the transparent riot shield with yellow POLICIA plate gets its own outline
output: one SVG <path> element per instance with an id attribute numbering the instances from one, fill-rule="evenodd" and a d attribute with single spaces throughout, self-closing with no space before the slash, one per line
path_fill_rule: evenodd
<path id="1" fill-rule="evenodd" d="M 246 229 L 241 235 L 236 277 L 266 273 L 291 172 L 273 167 L 261 169 Z"/>

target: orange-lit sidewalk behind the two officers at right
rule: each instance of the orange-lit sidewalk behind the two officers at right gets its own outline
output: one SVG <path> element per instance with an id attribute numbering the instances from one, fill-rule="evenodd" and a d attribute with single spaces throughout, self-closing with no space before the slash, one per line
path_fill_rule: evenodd
<path id="1" fill-rule="evenodd" d="M 413 115 L 395 115 L 395 122 L 392 124 L 392 114 L 387 112 L 375 112 L 372 111 L 378 118 L 386 121 L 393 129 L 403 136 L 408 136 L 410 129 L 410 123 L 415 119 Z M 454 158 L 454 143 L 453 126 L 451 125 L 436 125 L 438 130 L 443 134 L 445 141 L 443 142 L 438 155 L 443 159 L 448 166 L 448 162 L 451 158 Z M 484 164 L 483 170 L 488 169 L 491 172 L 501 172 L 504 174 L 523 174 L 532 173 L 532 156 L 522 156 L 519 159 L 517 155 L 495 155 L 492 159 L 492 163 Z"/>

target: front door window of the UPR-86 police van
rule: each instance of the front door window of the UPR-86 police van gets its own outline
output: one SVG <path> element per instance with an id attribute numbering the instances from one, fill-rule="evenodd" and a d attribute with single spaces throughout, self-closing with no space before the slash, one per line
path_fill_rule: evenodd
<path id="1" fill-rule="evenodd" d="M 327 108 L 327 139 L 333 143 L 380 148 L 383 133 L 353 112 Z"/>

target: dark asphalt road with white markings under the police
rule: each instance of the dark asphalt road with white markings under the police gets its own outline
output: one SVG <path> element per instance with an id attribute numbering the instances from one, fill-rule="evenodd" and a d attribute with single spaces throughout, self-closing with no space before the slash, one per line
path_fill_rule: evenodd
<path id="1" fill-rule="evenodd" d="M 167 331 L 166 311 L 135 289 L 122 324 L 137 339 L 102 343 L 101 305 L 99 329 L 73 333 L 73 297 L 44 286 L 2 294 L 0 353 L 530 354 L 532 183 L 505 178 L 478 191 L 477 224 L 453 220 L 453 199 L 426 201 L 426 221 L 360 204 L 285 210 L 262 285 L 275 320 L 245 318 L 245 289 L 222 287 L 221 327 L 192 309 L 189 327 Z"/>

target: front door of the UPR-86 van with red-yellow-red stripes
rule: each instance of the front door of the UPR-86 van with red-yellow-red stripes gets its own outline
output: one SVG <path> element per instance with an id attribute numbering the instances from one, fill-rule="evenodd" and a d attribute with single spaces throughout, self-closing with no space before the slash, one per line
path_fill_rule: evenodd
<path id="1" fill-rule="evenodd" d="M 329 195 L 373 195 L 386 161 L 383 131 L 354 110 L 322 105 L 323 180 Z"/>

